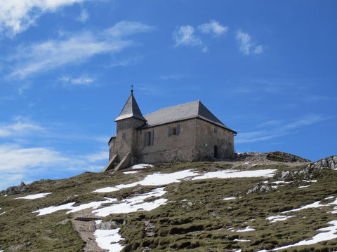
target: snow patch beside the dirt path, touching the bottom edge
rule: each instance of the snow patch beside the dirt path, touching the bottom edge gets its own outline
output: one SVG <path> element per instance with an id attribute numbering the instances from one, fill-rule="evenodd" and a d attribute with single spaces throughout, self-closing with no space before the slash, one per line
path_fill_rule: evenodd
<path id="1" fill-rule="evenodd" d="M 96 242 L 100 248 L 107 249 L 109 252 L 119 252 L 124 246 L 119 244 L 122 238 L 119 234 L 119 228 L 113 230 L 95 230 Z"/>

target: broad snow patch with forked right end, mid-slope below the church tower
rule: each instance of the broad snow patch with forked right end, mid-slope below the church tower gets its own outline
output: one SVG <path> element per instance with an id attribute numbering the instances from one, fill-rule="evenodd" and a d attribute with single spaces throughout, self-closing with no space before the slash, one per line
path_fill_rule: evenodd
<path id="1" fill-rule="evenodd" d="M 93 213 L 96 216 L 108 216 L 109 214 L 126 214 L 134 211 L 151 211 L 160 207 L 162 204 L 166 204 L 167 199 L 158 199 L 153 202 L 144 202 L 145 199 L 150 197 L 160 197 L 164 195 L 166 191 L 164 188 L 157 188 L 150 193 L 138 195 L 132 198 L 126 198 L 119 204 L 113 204 L 110 207 L 103 207 L 101 209 L 94 210 Z"/>

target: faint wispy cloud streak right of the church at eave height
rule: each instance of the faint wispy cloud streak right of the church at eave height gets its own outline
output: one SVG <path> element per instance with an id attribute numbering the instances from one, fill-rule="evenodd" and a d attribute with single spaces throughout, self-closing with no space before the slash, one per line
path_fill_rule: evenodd
<path id="1" fill-rule="evenodd" d="M 270 127 L 268 130 L 260 130 L 256 132 L 246 132 L 237 134 L 235 143 L 236 144 L 253 143 L 256 141 L 265 141 L 269 139 L 283 137 L 286 134 L 291 134 L 294 130 L 300 127 L 305 127 L 308 125 L 312 125 L 314 123 L 319 123 L 320 121 L 327 119 L 329 118 L 324 118 L 318 115 L 310 115 L 300 118 L 298 120 L 293 120 L 293 122 L 283 124 L 281 120 L 270 120 L 260 125 L 260 127 Z"/>

